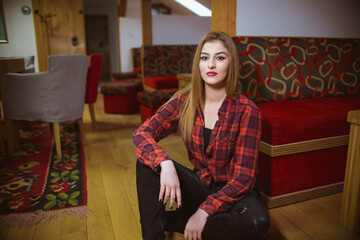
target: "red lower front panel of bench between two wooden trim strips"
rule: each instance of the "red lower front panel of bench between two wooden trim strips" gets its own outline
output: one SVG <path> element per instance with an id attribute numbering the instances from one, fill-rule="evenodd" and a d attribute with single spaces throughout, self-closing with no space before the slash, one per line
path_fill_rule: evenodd
<path id="1" fill-rule="evenodd" d="M 267 196 L 344 181 L 347 146 L 270 157 L 259 152 L 260 189 Z"/>

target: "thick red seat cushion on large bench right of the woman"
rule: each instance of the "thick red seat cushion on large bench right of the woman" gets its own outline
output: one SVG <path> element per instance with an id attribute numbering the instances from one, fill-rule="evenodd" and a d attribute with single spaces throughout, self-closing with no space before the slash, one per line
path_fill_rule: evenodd
<path id="1" fill-rule="evenodd" d="M 360 109 L 360 96 L 258 103 L 261 140 L 280 145 L 349 134 L 347 113 Z"/>

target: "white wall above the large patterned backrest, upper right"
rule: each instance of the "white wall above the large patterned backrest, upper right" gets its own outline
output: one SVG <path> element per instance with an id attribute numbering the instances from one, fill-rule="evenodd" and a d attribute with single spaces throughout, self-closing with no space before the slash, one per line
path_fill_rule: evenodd
<path id="1" fill-rule="evenodd" d="M 237 0 L 236 34 L 360 38 L 359 0 Z"/>

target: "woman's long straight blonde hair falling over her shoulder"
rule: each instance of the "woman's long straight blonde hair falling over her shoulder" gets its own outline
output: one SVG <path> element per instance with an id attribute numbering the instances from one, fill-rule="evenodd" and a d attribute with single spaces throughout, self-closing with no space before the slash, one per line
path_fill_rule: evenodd
<path id="1" fill-rule="evenodd" d="M 192 64 L 192 82 L 187 88 L 179 91 L 189 92 L 188 96 L 186 97 L 184 103 L 181 106 L 179 115 L 180 132 L 185 142 L 191 140 L 191 133 L 194 128 L 197 107 L 203 107 L 205 103 L 204 81 L 200 75 L 199 62 L 201 50 L 204 44 L 209 41 L 221 41 L 224 47 L 229 52 L 229 69 L 225 83 L 226 96 L 233 99 L 235 94 L 240 92 L 240 84 L 238 82 L 239 62 L 236 46 L 233 40 L 229 35 L 223 32 L 213 31 L 207 33 L 197 46 L 194 55 L 194 60 Z"/>

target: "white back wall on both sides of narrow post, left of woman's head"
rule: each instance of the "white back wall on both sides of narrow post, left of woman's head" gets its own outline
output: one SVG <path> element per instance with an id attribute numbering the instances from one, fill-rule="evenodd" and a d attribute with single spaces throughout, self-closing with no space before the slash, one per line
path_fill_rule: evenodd
<path id="1" fill-rule="evenodd" d="M 133 70 L 130 49 L 141 47 L 140 1 L 128 1 L 126 17 L 119 19 L 121 71 Z M 152 18 L 153 44 L 198 44 L 211 29 L 211 18 L 185 15 L 155 15 Z"/>

